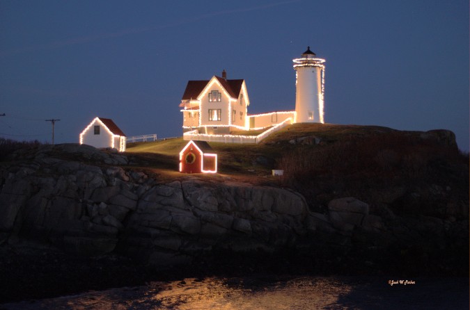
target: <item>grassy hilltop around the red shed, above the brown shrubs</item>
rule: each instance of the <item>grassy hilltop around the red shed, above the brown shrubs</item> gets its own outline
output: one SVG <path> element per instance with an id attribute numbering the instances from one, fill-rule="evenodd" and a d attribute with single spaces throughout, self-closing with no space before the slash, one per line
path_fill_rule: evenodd
<path id="1" fill-rule="evenodd" d="M 352 165 L 360 166 L 360 161 L 367 162 L 368 165 L 382 161 L 376 164 L 386 168 L 394 164 L 393 158 L 396 157 L 396 161 L 402 160 L 404 152 L 410 153 L 414 147 L 421 147 L 419 153 L 433 152 L 433 147 L 456 151 L 452 141 L 442 146 L 443 142 L 436 138 L 438 135 L 434 137 L 424 134 L 378 126 L 293 124 L 273 133 L 258 145 L 219 142 L 210 142 L 210 145 L 219 156 L 219 172 L 224 174 L 270 174 L 270 170 L 282 168 L 292 172 L 304 169 L 305 165 L 301 165 L 302 163 L 314 164 L 317 174 L 320 167 L 329 169 L 331 167 L 327 167 L 328 165 L 344 166 L 348 163 L 350 168 L 354 168 Z M 178 167 L 179 152 L 186 143 L 182 138 L 129 143 L 127 153 L 143 156 L 150 167 L 175 170 Z M 338 158 L 338 153 L 343 152 L 350 154 L 346 158 Z M 295 159 L 292 167 L 288 167 L 289 159 L 296 157 L 299 158 Z M 335 160 L 338 163 L 332 163 Z"/>

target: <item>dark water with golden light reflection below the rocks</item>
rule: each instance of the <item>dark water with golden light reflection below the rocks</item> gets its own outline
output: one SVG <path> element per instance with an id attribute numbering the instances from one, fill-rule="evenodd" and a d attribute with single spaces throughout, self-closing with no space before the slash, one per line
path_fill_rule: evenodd
<path id="1" fill-rule="evenodd" d="M 469 309 L 469 279 L 191 278 L 3 304 L 0 309 Z"/>

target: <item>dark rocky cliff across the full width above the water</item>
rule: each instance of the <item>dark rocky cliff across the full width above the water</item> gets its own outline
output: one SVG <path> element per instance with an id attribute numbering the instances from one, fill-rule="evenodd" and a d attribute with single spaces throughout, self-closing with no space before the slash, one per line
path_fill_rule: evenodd
<path id="1" fill-rule="evenodd" d="M 161 181 L 129 162 L 86 145 L 16 152 L 1 165 L 0 244 L 120 253 L 159 266 L 216 250 L 288 251 L 332 264 L 350 257 L 370 268 L 425 263 L 457 274 L 468 261 L 468 200 L 451 199 L 451 188 L 431 186 L 444 213 L 395 214 L 409 199 L 396 188 L 371 192 L 372 205 L 332 197 L 321 211 L 280 186 L 221 176 Z"/>

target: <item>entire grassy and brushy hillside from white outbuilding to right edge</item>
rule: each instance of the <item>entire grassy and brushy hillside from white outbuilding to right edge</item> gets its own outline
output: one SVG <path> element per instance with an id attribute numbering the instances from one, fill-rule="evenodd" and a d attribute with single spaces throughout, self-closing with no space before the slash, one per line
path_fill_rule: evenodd
<path id="1" fill-rule="evenodd" d="M 144 169 L 178 177 L 178 154 L 186 143 L 182 138 L 130 143 L 127 153 Z M 468 199 L 469 156 L 457 149 L 451 131 L 293 124 L 258 145 L 210 145 L 219 156 L 219 174 L 279 183 L 303 193 L 311 205 L 341 195 L 371 201 L 372 190 L 390 188 L 420 193 L 432 184 L 449 186 Z M 272 177 L 272 169 L 284 170 L 284 176 Z"/>

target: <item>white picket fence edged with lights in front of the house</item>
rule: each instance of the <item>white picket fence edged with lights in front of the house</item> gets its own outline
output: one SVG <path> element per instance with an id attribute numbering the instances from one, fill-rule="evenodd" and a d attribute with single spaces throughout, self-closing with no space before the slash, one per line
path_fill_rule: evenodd
<path id="1" fill-rule="evenodd" d="M 240 136 L 240 135 L 209 135 L 206 133 L 198 133 L 197 129 L 183 133 L 183 140 L 200 140 L 209 142 L 224 142 L 224 143 L 259 143 L 261 140 L 269 136 L 271 133 L 279 131 L 284 127 L 292 124 L 292 117 L 289 117 L 276 126 L 271 127 L 267 131 L 263 131 L 258 136 Z"/>

